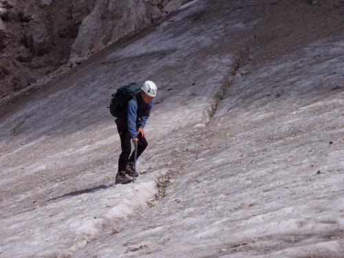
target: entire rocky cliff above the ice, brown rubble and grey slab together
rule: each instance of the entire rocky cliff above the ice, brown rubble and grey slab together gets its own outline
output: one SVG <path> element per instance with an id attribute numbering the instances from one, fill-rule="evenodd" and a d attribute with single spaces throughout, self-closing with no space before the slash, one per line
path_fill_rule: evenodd
<path id="1" fill-rule="evenodd" d="M 78 65 L 188 0 L 0 0 L 0 100 Z"/>

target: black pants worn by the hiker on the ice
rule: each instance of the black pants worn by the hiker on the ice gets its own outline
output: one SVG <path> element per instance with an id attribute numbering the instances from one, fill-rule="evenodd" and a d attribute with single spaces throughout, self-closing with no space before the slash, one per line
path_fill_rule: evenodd
<path id="1" fill-rule="evenodd" d="M 117 130 L 118 134 L 120 135 L 120 147 L 122 147 L 122 153 L 120 153 L 120 158 L 118 160 L 118 173 L 120 173 L 120 171 L 125 171 L 128 162 L 133 162 L 135 158 L 135 151 L 131 153 L 131 146 L 133 146 L 133 143 L 131 142 L 131 136 L 129 131 L 126 129 L 122 129 L 120 127 L 117 127 Z M 146 138 L 143 138 L 141 134 L 138 135 L 138 140 L 140 143 L 138 144 L 138 155 L 136 156 L 136 159 L 140 157 L 142 152 L 148 146 Z"/>

